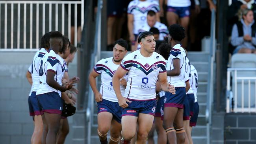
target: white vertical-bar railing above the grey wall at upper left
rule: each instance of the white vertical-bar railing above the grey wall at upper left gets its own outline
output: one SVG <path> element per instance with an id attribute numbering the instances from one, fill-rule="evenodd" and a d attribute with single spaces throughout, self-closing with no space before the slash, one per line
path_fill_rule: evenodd
<path id="1" fill-rule="evenodd" d="M 1 6 L 3 5 L 4 5 L 4 10 L 1 10 Z M 0 22 L 0 33 L 4 32 L 4 38 L 1 38 L 2 35 L 0 34 L 0 50 L 24 50 L 24 49 L 32 50 L 32 48 L 38 49 L 39 39 L 41 38 L 41 35 L 43 35 L 45 32 L 48 32 L 48 31 L 61 31 L 61 33 L 63 34 L 67 33 L 68 38 L 70 39 L 71 38 L 71 30 L 70 30 L 71 6 L 74 6 L 74 45 L 77 46 L 78 5 L 81 5 L 80 12 L 81 12 L 81 31 L 82 31 L 83 22 L 84 22 L 83 20 L 84 0 L 78 0 L 78 1 L 1 0 L 0 1 L 0 19 L 1 20 L 4 19 L 4 25 L 1 25 L 1 22 Z M 67 16 L 65 16 L 65 6 L 67 6 L 67 10 L 68 10 Z M 46 15 L 46 9 L 48 9 L 48 12 L 47 12 L 48 15 Z M 53 9 L 55 9 L 55 11 L 53 11 Z M 61 10 L 60 14 L 59 14 L 59 10 Z M 4 11 L 4 17 L 1 17 L 2 16 L 1 11 Z M 39 15 L 41 16 L 40 19 L 39 19 Z M 55 15 L 55 22 L 53 22 L 54 19 L 52 19 L 52 16 L 54 15 Z M 16 17 L 17 17 L 17 20 L 16 20 Z M 35 22 L 34 22 L 34 19 L 35 19 Z M 61 24 L 58 23 L 59 19 L 61 19 Z M 67 20 L 68 22 L 65 22 L 66 19 L 68 19 Z M 29 24 L 27 23 L 28 21 L 29 21 Z M 41 27 L 39 27 L 39 22 L 41 22 Z M 29 28 L 27 29 L 28 25 L 29 25 Z M 48 30 L 46 30 L 46 26 Z M 34 30 L 34 27 L 35 27 L 35 30 Z M 42 33 L 41 35 L 39 35 L 39 31 L 40 33 Z M 27 40 L 27 32 L 29 32 L 29 40 Z M 17 38 L 15 38 L 16 36 L 14 37 L 14 35 L 17 35 Z M 21 40 L 22 37 L 23 39 Z M 1 47 L 2 39 L 4 39 L 4 42 L 3 42 L 4 47 Z M 14 41 L 17 41 L 17 42 L 14 43 Z"/>

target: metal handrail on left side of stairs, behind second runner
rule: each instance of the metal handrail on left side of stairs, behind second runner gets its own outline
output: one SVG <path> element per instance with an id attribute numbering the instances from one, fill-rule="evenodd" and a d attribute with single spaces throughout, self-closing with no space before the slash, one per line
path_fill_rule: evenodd
<path id="1" fill-rule="evenodd" d="M 96 15 L 96 29 L 95 29 L 95 39 L 94 39 L 94 51 L 91 54 L 90 65 L 91 68 L 95 65 L 95 63 L 100 58 L 100 50 L 101 50 L 101 11 L 102 11 L 103 1 L 98 0 L 98 9 Z M 96 78 L 97 81 L 97 78 Z M 93 126 L 93 116 L 94 116 L 94 94 L 91 87 L 89 87 L 89 98 L 87 101 L 87 109 L 86 109 L 86 119 L 88 122 L 87 129 L 87 144 L 91 144 L 91 127 Z"/>

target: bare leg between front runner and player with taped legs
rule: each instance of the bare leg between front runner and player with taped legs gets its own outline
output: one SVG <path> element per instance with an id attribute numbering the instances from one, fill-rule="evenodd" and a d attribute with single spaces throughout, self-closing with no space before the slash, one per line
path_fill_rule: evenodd
<path id="1" fill-rule="evenodd" d="M 165 133 L 165 129 L 163 128 L 163 120 L 161 120 L 161 117 L 155 117 L 155 124 L 156 124 L 156 132 L 158 135 L 157 143 L 166 144 L 167 136 Z"/>

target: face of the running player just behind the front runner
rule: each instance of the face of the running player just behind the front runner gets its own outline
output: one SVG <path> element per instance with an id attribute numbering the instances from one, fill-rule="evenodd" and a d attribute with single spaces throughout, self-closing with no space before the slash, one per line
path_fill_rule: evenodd
<path id="1" fill-rule="evenodd" d="M 115 44 L 113 48 L 113 59 L 115 62 L 120 62 L 124 58 L 127 50 L 124 47 L 120 46 L 119 44 Z"/>

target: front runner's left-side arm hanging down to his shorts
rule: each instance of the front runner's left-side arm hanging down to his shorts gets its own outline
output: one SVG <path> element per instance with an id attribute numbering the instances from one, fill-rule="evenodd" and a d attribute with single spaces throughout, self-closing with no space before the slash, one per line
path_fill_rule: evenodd
<path id="1" fill-rule="evenodd" d="M 119 106 L 122 108 L 128 107 L 128 104 L 126 102 L 130 102 L 126 98 L 124 98 L 121 94 L 120 90 L 120 79 L 127 73 L 127 70 L 124 70 L 121 66 L 119 66 L 112 78 L 112 84 L 113 88 L 115 90 L 115 95 L 117 96 L 117 100 L 119 103 Z"/>

